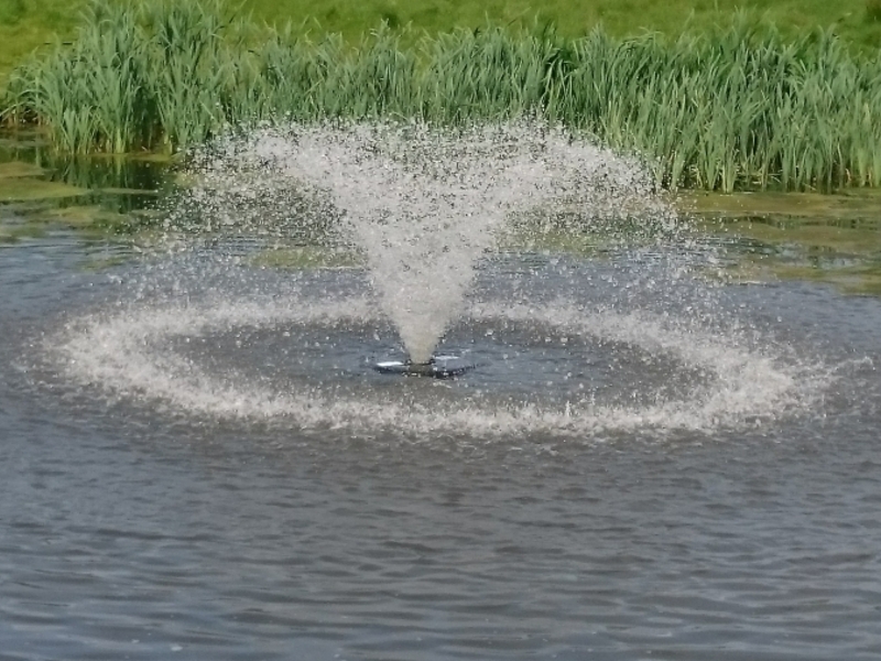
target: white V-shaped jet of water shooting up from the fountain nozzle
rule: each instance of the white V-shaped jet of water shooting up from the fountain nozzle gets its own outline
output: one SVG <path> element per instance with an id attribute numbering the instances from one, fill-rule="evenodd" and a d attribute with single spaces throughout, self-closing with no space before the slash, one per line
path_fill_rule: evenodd
<path id="1" fill-rule="evenodd" d="M 326 195 L 366 254 L 382 310 L 414 362 L 431 358 L 461 307 L 477 260 L 513 213 L 546 213 L 555 202 L 577 198 L 594 215 L 620 217 L 650 205 L 655 217 L 663 215 L 632 163 L 530 123 L 268 129 L 211 153 L 205 171 L 213 192 L 239 194 L 243 164 L 257 164 L 271 173 L 260 187 L 267 198 L 303 185 Z"/>

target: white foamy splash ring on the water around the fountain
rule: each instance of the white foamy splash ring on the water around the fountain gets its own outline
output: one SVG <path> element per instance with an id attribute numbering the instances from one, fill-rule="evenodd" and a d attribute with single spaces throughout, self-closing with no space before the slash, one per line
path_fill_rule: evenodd
<path id="1" fill-rule="evenodd" d="M 373 318 L 373 308 L 367 299 L 316 302 L 296 296 L 284 303 L 135 304 L 75 321 L 64 337 L 54 338 L 48 346 L 54 347 L 68 377 L 113 395 L 164 402 L 182 412 L 217 419 L 274 420 L 301 430 L 400 432 L 409 437 L 438 433 L 487 438 L 513 434 L 591 437 L 617 431 L 737 427 L 804 411 L 822 386 L 816 370 L 787 362 L 768 347 L 738 347 L 730 337 L 708 329 L 675 327 L 670 319 L 644 313 L 586 313 L 566 302 L 543 306 L 488 303 L 472 306 L 468 316 L 489 323 L 539 323 L 570 336 L 594 336 L 663 353 L 711 373 L 710 384 L 684 400 L 642 407 L 561 402 L 558 409 L 543 410 L 525 403 L 505 408 L 474 402 L 461 407 L 435 401 L 395 403 L 366 394 L 346 398 L 333 388 L 323 391 L 304 386 L 300 392 L 280 392 L 253 378 L 213 376 L 168 348 L 167 340 L 175 336 L 230 328 L 363 324 Z"/>

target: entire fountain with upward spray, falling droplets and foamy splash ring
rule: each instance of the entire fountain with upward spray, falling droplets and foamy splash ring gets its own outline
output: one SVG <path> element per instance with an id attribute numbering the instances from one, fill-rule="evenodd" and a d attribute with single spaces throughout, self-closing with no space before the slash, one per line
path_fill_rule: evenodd
<path id="1" fill-rule="evenodd" d="M 199 239 L 124 312 L 69 324 L 77 380 L 211 418 L 478 436 L 740 425 L 817 391 L 784 348 L 707 321 L 645 171 L 563 130 L 272 127 L 193 173 L 167 226 Z M 355 268 L 254 268 L 292 237 Z"/>

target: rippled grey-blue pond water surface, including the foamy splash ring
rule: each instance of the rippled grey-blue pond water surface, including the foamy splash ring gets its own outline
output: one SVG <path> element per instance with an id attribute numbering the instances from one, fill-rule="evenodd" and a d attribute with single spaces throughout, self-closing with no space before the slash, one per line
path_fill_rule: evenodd
<path id="1" fill-rule="evenodd" d="M 881 657 L 878 300 L 511 256 L 443 383 L 357 270 L 84 250 L 0 249 L 0 659 Z"/>

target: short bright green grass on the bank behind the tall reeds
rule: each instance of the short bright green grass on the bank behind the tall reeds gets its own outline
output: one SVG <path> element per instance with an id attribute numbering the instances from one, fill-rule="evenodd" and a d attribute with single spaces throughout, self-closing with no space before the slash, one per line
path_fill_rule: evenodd
<path id="1" fill-rule="evenodd" d="M 0 0 L 0 86 L 8 72 L 34 48 L 42 48 L 55 36 L 73 39 L 87 2 Z M 383 20 L 391 26 L 412 25 L 415 32 L 436 34 L 488 22 L 522 28 L 536 18 L 557 25 L 569 37 L 583 36 L 600 23 L 618 36 L 650 30 L 676 37 L 684 29 L 704 31 L 725 25 L 736 11 L 746 10 L 780 25 L 787 37 L 816 28 L 834 28 L 853 50 L 875 48 L 881 43 L 879 0 L 238 0 L 235 6 L 257 22 L 279 26 L 291 22 L 301 34 L 308 32 L 317 37 L 339 32 L 352 41 Z"/>

